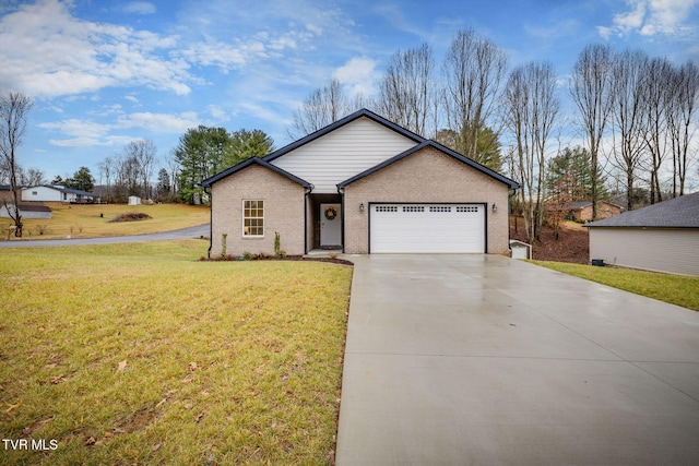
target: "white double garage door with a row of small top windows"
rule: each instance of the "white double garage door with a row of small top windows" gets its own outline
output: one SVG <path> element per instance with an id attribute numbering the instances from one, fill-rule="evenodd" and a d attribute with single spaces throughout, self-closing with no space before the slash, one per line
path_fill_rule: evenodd
<path id="1" fill-rule="evenodd" d="M 483 204 L 371 204 L 370 252 L 484 253 Z"/>

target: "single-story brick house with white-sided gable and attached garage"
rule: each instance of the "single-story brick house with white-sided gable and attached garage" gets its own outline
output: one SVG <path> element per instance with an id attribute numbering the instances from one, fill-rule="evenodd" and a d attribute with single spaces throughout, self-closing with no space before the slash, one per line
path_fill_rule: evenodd
<path id="1" fill-rule="evenodd" d="M 509 253 L 508 194 L 519 184 L 368 110 L 201 183 L 210 255 Z"/>

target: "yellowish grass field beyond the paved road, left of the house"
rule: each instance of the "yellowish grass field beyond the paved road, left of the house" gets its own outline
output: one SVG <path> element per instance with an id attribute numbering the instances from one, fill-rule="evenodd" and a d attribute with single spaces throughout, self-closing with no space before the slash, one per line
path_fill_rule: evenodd
<path id="1" fill-rule="evenodd" d="M 106 236 L 142 235 L 169 231 L 209 223 L 210 207 L 206 205 L 154 204 L 62 204 L 46 203 L 51 207 L 51 218 L 23 219 L 22 239 L 96 238 Z M 110 223 L 126 213 L 143 213 L 151 218 L 140 222 Z M 3 228 L 0 239 L 8 238 L 10 218 L 1 218 Z M 14 240 L 14 237 L 10 239 Z"/>

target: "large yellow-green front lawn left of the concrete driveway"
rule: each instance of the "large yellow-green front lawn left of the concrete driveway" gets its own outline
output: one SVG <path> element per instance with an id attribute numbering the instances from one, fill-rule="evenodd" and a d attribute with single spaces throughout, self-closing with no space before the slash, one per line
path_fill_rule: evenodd
<path id="1" fill-rule="evenodd" d="M 352 268 L 208 246 L 0 250 L 0 464 L 329 463 Z"/>

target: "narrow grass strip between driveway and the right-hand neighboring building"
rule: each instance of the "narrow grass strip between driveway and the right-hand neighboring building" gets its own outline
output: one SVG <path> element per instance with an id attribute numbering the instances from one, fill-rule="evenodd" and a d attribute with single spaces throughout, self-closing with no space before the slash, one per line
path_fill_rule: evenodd
<path id="1" fill-rule="evenodd" d="M 565 274 L 699 311 L 699 277 L 564 262 L 532 262 Z"/>

